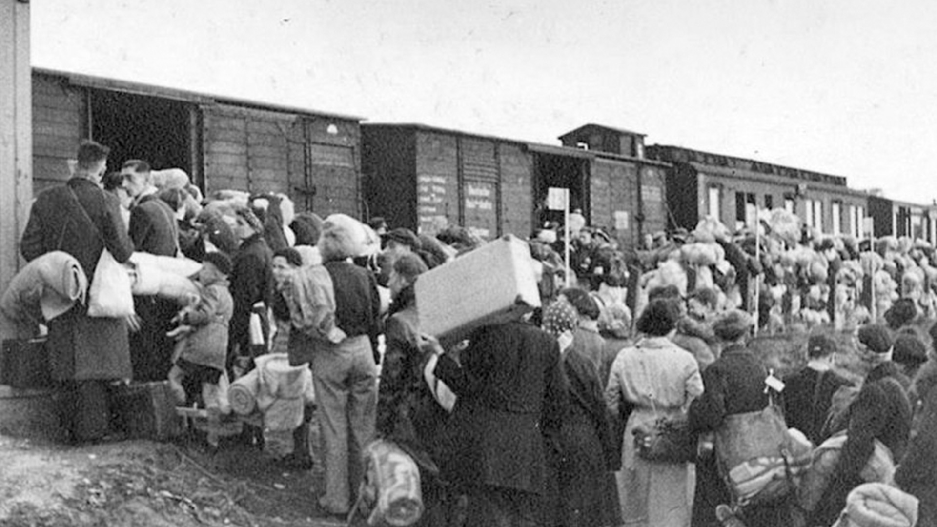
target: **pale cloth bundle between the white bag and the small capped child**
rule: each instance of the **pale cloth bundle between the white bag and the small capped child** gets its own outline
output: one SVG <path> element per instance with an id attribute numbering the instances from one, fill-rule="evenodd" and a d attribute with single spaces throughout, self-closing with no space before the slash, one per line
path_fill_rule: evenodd
<path id="1" fill-rule="evenodd" d="M 188 294 L 199 294 L 198 287 L 188 278 L 201 269 L 201 264 L 194 260 L 134 252 L 130 262 L 136 266 L 136 276 L 131 282 L 133 294 L 157 295 L 180 302 Z"/>

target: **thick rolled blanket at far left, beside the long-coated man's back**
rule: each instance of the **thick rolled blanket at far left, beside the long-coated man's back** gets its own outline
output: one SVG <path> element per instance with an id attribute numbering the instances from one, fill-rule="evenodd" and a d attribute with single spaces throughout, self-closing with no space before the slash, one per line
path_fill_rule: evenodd
<path id="1" fill-rule="evenodd" d="M 82 264 L 61 250 L 48 252 L 26 264 L 10 280 L 0 298 L 0 311 L 10 320 L 40 323 L 85 301 L 88 279 Z"/>

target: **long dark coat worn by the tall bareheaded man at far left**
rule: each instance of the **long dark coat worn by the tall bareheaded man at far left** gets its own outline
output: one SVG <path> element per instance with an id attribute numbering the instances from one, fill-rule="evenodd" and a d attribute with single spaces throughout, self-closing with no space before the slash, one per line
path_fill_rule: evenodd
<path id="1" fill-rule="evenodd" d="M 69 188 L 77 196 L 77 203 Z M 133 252 L 116 196 L 82 177 L 73 177 L 65 185 L 49 188 L 37 196 L 22 233 L 23 258 L 32 261 L 53 250 L 63 250 L 82 264 L 90 284 L 103 248 L 108 248 L 118 262 L 126 262 Z M 82 304 L 76 304 L 50 321 L 47 349 L 52 378 L 59 381 L 129 378 L 126 322 L 88 317 L 86 313 Z"/>

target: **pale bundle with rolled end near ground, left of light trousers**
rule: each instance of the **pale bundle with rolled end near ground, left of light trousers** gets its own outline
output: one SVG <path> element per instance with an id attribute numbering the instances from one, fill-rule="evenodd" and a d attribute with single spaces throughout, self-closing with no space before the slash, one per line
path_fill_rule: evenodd
<path id="1" fill-rule="evenodd" d="M 228 399 L 237 414 L 263 414 L 268 430 L 291 430 L 303 422 L 304 407 L 316 401 L 312 371 L 290 366 L 287 354 L 264 354 L 256 368 L 231 384 Z"/>

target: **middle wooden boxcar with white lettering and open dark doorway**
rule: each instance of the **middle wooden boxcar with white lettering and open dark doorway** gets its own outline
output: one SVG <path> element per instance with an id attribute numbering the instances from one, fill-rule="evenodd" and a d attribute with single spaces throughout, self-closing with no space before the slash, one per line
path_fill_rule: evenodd
<path id="1" fill-rule="evenodd" d="M 367 213 L 392 227 L 527 236 L 562 218 L 550 188 L 626 246 L 665 226 L 665 163 L 418 124 L 365 123 L 362 137 Z"/>

